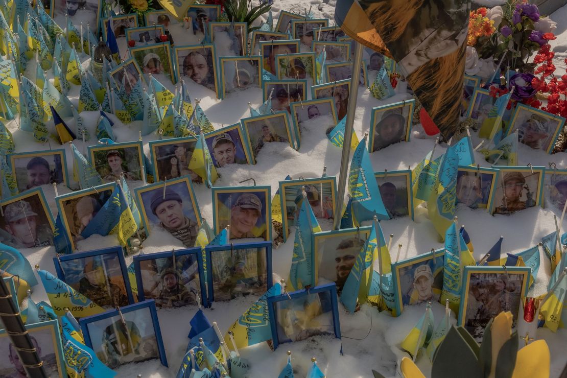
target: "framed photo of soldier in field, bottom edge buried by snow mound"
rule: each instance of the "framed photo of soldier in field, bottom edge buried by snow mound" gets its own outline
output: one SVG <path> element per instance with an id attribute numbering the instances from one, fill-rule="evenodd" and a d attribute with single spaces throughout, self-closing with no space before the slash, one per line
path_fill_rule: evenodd
<path id="1" fill-rule="evenodd" d="M 256 164 L 256 158 L 266 143 L 284 142 L 295 148 L 286 112 L 242 118 L 240 122 L 246 135 L 248 150 L 251 152 L 252 164 Z"/>

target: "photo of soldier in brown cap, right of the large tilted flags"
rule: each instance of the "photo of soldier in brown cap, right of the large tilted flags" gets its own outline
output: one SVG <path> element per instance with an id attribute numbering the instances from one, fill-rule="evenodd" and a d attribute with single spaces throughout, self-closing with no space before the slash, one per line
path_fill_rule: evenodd
<path id="1" fill-rule="evenodd" d="M 502 175 L 503 172 L 500 174 Z M 527 177 L 526 177 L 527 176 Z M 494 213 L 509 214 L 514 211 L 523 210 L 535 206 L 535 190 L 538 188 L 539 173 L 506 172 L 502 177 L 502 184 L 497 187 L 496 200 L 500 205 L 496 206 Z M 526 178 L 530 182 L 526 182 Z M 535 180 L 535 184 L 534 184 Z M 525 192 L 524 192 L 525 190 Z M 501 197 L 498 198 L 498 195 Z"/>

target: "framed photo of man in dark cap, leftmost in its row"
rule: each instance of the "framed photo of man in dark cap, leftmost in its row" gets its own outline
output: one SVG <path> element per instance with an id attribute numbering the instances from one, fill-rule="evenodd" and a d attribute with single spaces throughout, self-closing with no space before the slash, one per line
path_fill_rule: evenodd
<path id="1" fill-rule="evenodd" d="M 7 158 L 20 192 L 52 182 L 69 186 L 64 149 L 20 152 Z"/>

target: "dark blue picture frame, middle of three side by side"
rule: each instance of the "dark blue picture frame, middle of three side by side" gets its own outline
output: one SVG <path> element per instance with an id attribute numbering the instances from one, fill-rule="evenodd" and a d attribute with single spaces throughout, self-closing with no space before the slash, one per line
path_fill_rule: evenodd
<path id="1" fill-rule="evenodd" d="M 168 257 L 180 257 L 180 256 L 190 256 L 194 255 L 197 260 L 197 267 L 198 267 L 198 274 L 199 274 L 199 290 L 201 296 L 201 304 L 204 307 L 208 307 L 207 301 L 207 292 L 205 286 L 205 270 L 204 270 L 204 261 L 202 259 L 202 250 L 201 247 L 196 248 L 184 248 L 184 249 L 177 249 L 171 250 L 166 252 L 157 252 L 157 253 L 147 253 L 147 254 L 138 254 L 134 256 L 134 272 L 136 273 L 136 285 L 138 287 L 138 301 L 142 302 L 146 300 L 144 291 L 143 291 L 143 279 L 142 279 L 142 271 L 140 262 L 147 261 L 147 260 L 157 260 L 158 258 L 168 258 Z M 176 260 L 177 263 L 177 260 Z M 179 263 L 177 263 L 178 265 Z M 176 267 L 176 270 L 178 268 Z M 154 299 L 155 300 L 155 299 Z"/>

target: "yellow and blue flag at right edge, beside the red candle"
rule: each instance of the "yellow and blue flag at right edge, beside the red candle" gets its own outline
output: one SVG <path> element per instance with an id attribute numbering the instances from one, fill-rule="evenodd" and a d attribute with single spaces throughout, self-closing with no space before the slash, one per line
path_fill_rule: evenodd
<path id="1" fill-rule="evenodd" d="M 567 268 L 561 270 L 557 280 L 541 301 L 539 313 L 545 319 L 545 326 L 552 332 L 567 324 Z"/>

